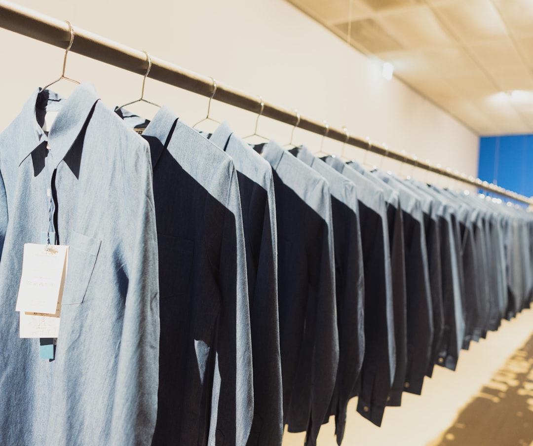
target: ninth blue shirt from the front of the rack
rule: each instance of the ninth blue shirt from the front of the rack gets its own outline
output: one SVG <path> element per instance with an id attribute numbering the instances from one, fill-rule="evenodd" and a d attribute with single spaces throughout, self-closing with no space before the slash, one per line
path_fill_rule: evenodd
<path id="1" fill-rule="evenodd" d="M 422 212 L 424 215 L 427 263 L 430 273 L 431 301 L 433 308 L 433 342 L 431 346 L 430 361 L 426 370 L 426 376 L 431 378 L 433 375 L 433 368 L 439 359 L 439 346 L 442 342 L 442 331 L 444 329 L 439 226 L 439 220 L 442 218 L 442 207 L 437 200 L 433 199 L 423 190 L 417 189 L 409 181 L 404 181 L 402 184 L 417 194 L 418 198 L 421 200 Z"/>

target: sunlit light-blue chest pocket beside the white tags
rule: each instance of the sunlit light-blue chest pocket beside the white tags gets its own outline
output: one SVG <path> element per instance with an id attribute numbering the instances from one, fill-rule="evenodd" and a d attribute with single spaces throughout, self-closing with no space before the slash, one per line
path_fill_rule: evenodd
<path id="1" fill-rule="evenodd" d="M 68 253 L 67 277 L 61 305 L 73 305 L 83 302 L 87 287 L 91 281 L 100 244 L 100 240 L 72 231 Z"/>

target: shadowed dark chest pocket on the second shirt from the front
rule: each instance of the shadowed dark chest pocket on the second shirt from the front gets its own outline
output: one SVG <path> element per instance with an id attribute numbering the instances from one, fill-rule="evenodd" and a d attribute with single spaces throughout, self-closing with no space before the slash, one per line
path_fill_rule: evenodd
<path id="1" fill-rule="evenodd" d="M 159 295 L 161 299 L 187 294 L 195 242 L 157 234 Z"/>

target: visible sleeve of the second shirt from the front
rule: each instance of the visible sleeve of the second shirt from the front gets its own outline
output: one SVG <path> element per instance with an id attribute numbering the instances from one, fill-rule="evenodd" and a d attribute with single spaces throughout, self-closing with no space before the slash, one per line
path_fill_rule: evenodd
<path id="1" fill-rule="evenodd" d="M 253 421 L 253 364 L 243 218 L 230 166 L 218 269 L 221 311 L 216 324 L 209 446 L 246 444 Z"/>

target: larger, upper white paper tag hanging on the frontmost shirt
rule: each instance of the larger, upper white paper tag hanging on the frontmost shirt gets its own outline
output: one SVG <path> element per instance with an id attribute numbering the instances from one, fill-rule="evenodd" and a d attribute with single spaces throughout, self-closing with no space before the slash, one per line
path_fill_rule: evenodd
<path id="1" fill-rule="evenodd" d="M 67 256 L 68 246 L 24 245 L 16 311 L 50 315 L 58 313 Z"/>

